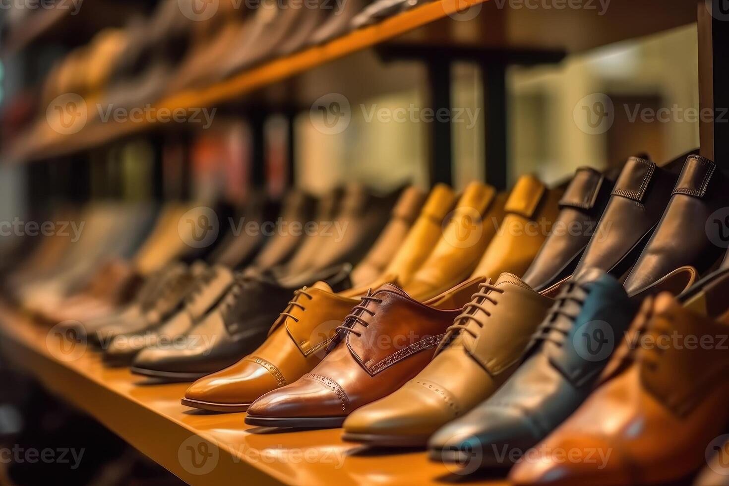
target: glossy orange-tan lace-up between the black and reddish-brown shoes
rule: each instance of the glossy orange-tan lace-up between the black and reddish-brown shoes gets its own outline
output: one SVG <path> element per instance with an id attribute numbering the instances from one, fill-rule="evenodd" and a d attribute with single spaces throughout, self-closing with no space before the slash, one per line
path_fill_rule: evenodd
<path id="1" fill-rule="evenodd" d="M 335 294 L 324 282 L 301 289 L 267 329 L 262 344 L 243 358 L 238 355 L 232 366 L 192 383 L 185 399 L 247 407 L 264 393 L 295 382 L 319 364 L 324 346 L 357 302 Z"/>

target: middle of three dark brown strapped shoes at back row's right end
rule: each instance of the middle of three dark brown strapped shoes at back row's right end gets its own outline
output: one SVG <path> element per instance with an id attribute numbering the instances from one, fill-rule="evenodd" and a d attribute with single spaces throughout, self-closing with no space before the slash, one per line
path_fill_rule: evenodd
<path id="1" fill-rule="evenodd" d="M 573 274 L 599 268 L 623 281 L 655 230 L 676 180 L 654 162 L 630 157 Z"/>

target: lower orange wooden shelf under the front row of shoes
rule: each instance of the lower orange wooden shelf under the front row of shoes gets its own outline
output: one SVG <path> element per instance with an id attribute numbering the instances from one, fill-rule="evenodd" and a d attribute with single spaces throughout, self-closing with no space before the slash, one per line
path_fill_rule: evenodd
<path id="1" fill-rule="evenodd" d="M 85 346 L 2 305 L 0 334 L 1 352 L 17 366 L 190 485 L 506 484 L 455 474 L 425 452 L 367 450 L 343 442 L 341 429 L 257 428 L 243 423 L 244 413 L 184 407 L 187 384 L 106 368 Z"/>

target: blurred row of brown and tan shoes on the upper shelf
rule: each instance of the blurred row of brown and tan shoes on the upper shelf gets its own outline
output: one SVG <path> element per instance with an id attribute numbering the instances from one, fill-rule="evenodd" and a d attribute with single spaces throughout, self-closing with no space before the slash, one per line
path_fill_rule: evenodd
<path id="1" fill-rule="evenodd" d="M 143 107 L 429 1 L 162 0 L 149 17 L 104 29 L 61 59 L 44 82 L 43 112 L 66 93 Z"/>

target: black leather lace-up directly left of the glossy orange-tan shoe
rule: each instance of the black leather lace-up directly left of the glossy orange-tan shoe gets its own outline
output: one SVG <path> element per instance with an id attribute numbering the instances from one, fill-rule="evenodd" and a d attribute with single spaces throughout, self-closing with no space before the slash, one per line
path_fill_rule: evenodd
<path id="1" fill-rule="evenodd" d="M 238 275 L 220 304 L 190 329 L 185 340 L 142 350 L 131 370 L 162 380 L 190 381 L 229 367 L 261 345 L 295 290 L 320 280 L 334 291 L 345 290 L 350 271 L 351 265 L 344 264 L 285 286 L 270 275 Z"/>

